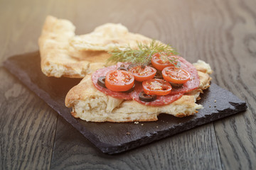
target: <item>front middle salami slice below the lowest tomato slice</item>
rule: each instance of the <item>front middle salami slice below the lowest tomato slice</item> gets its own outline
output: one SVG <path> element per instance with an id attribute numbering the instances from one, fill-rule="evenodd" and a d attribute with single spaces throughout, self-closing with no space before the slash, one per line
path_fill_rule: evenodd
<path id="1" fill-rule="evenodd" d="M 131 96 L 134 101 L 137 101 L 139 103 L 142 103 L 146 106 L 163 106 L 167 105 L 169 103 L 172 103 L 178 98 L 181 98 L 183 94 L 169 94 L 165 96 L 156 96 L 156 100 L 145 102 L 139 100 L 139 93 L 143 91 L 142 84 L 136 83 L 134 91 L 132 91 Z"/>

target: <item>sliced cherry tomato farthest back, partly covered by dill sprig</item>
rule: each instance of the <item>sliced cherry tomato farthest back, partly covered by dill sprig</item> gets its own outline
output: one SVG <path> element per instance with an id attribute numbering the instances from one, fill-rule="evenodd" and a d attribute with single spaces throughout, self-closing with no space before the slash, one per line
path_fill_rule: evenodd
<path id="1" fill-rule="evenodd" d="M 156 69 L 159 69 L 159 70 L 163 70 L 165 67 L 168 67 L 168 66 L 174 66 L 174 64 L 172 64 L 166 57 L 168 57 L 170 60 L 174 60 L 178 58 L 175 55 L 164 56 L 164 53 L 156 53 L 151 57 L 151 63 Z"/>

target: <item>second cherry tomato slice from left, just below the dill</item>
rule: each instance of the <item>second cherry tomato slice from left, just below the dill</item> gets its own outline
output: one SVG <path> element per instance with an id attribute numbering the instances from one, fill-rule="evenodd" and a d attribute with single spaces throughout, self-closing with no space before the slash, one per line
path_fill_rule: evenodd
<path id="1" fill-rule="evenodd" d="M 137 73 L 136 69 L 139 69 L 140 73 Z M 149 72 L 149 74 L 146 75 L 139 75 L 139 74 L 144 74 L 144 70 L 141 70 L 140 66 L 137 67 L 132 67 L 131 69 L 129 69 L 129 72 L 131 72 L 134 75 L 134 79 L 136 81 L 145 81 L 147 79 L 153 79 L 154 76 L 156 75 L 156 69 L 154 67 L 150 67 L 150 66 L 146 66 L 144 69 L 150 69 L 151 72 Z"/>

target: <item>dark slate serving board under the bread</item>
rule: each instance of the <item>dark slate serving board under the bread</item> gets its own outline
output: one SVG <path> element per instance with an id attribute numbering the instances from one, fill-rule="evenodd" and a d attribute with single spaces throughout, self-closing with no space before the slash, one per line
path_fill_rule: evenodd
<path id="1" fill-rule="evenodd" d="M 39 52 L 9 57 L 4 67 L 20 79 L 65 120 L 107 154 L 117 154 L 155 140 L 189 130 L 198 125 L 210 123 L 228 115 L 245 111 L 245 101 L 241 101 L 230 91 L 211 84 L 201 95 L 198 103 L 203 105 L 196 115 L 176 118 L 161 114 L 156 122 L 144 123 L 89 123 L 73 118 L 65 107 L 65 95 L 80 79 L 46 77 L 41 72 Z"/>

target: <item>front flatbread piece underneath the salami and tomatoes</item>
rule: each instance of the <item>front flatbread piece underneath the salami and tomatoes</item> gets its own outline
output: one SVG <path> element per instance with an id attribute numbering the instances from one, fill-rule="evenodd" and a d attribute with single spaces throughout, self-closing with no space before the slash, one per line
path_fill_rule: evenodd
<path id="1" fill-rule="evenodd" d="M 210 86 L 210 76 L 212 72 L 205 62 L 197 62 L 200 86 L 198 89 L 183 95 L 178 100 L 165 106 L 144 106 L 137 101 L 125 101 L 119 98 L 112 98 L 98 91 L 92 84 L 92 79 L 87 75 L 80 84 L 74 86 L 65 98 L 65 106 L 73 108 L 71 114 L 75 118 L 80 118 L 92 122 L 134 122 L 134 121 L 154 121 L 160 113 L 183 117 L 197 113 L 203 108 L 196 100 L 199 94 Z"/>

